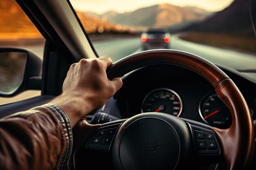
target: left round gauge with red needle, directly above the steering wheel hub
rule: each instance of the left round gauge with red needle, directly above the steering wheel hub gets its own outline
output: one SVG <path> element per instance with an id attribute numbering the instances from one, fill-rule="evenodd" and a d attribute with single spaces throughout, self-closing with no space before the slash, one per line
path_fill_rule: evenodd
<path id="1" fill-rule="evenodd" d="M 141 113 L 161 112 L 179 117 L 182 112 L 180 96 L 168 88 L 157 88 L 144 98 Z"/>

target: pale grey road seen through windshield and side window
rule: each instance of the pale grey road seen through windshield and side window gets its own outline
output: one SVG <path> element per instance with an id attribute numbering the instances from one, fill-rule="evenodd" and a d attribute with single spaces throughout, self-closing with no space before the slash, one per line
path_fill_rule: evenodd
<path id="1" fill-rule="evenodd" d="M 113 62 L 141 51 L 139 38 L 117 38 L 112 40 L 101 40 L 93 42 L 99 56 L 108 55 Z M 43 46 L 22 46 L 36 52 L 41 57 L 43 56 Z M 171 38 L 171 49 L 186 51 L 203 57 L 215 64 L 224 65 L 236 70 L 250 70 L 256 72 L 256 55 L 242 53 L 231 49 L 220 49 L 213 46 L 196 44 L 181 40 L 178 35 L 173 35 Z M 25 97 L 30 98 L 39 96 L 40 91 L 26 91 L 15 97 L 3 98 L 0 97 L 0 105 L 10 102 L 16 102 Z"/>

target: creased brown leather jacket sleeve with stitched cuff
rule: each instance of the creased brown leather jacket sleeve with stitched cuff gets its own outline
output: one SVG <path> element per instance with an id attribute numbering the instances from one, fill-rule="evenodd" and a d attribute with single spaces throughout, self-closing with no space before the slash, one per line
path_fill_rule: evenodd
<path id="1" fill-rule="evenodd" d="M 70 158 L 72 140 L 69 119 L 56 105 L 4 117 L 0 119 L 0 169 L 61 169 Z"/>

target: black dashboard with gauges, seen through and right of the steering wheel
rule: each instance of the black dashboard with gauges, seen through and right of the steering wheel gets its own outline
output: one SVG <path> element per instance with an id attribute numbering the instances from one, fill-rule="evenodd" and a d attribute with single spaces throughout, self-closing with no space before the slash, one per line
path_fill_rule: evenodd
<path id="1" fill-rule="evenodd" d="M 236 83 L 256 119 L 256 85 L 222 70 Z M 103 112 L 120 119 L 139 113 L 162 112 L 218 128 L 231 125 L 232 117 L 213 86 L 197 73 L 170 65 L 137 69 L 124 77 L 123 87 L 110 98 Z"/>

